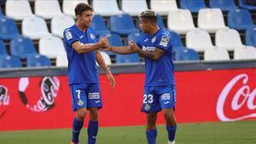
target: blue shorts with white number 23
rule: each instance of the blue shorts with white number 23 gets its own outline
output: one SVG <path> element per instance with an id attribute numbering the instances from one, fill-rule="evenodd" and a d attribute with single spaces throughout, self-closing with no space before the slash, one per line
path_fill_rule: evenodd
<path id="1" fill-rule="evenodd" d="M 175 109 L 175 104 L 175 85 L 144 87 L 142 112 L 159 112 L 166 108 Z"/>

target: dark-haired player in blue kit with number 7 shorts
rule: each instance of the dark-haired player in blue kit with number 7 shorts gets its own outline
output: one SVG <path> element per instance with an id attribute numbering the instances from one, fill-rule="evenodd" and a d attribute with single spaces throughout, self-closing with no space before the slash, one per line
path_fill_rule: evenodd
<path id="1" fill-rule="evenodd" d="M 98 51 L 98 49 L 108 47 L 108 38 L 103 37 L 96 42 L 96 33 L 90 28 L 93 9 L 88 4 L 79 3 L 74 10 L 76 24 L 63 32 L 68 59 L 68 84 L 72 95 L 73 111 L 76 112 L 73 119 L 71 143 L 79 143 L 79 133 L 88 110 L 90 112 L 87 129 L 88 144 L 95 144 L 98 131 L 98 111 L 102 108 L 96 61 L 107 73 L 112 87 L 115 82 Z"/>

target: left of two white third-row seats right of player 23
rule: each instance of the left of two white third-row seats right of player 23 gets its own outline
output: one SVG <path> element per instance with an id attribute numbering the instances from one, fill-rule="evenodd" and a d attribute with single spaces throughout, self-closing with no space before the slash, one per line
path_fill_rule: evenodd
<path id="1" fill-rule="evenodd" d="M 210 34 L 201 29 L 195 29 L 186 34 L 186 46 L 199 52 L 213 47 Z"/>

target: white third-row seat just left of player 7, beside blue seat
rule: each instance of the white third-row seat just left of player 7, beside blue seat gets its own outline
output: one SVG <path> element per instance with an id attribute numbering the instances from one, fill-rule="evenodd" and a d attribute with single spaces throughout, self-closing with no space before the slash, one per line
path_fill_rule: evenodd
<path id="1" fill-rule="evenodd" d="M 42 37 L 39 40 L 39 54 L 46 55 L 49 58 L 56 58 L 57 55 L 66 55 L 64 43 L 59 37 Z"/>

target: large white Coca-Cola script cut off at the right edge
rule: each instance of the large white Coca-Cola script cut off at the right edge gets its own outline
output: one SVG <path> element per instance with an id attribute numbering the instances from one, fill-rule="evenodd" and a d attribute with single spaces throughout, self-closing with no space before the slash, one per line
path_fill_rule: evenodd
<path id="1" fill-rule="evenodd" d="M 216 107 L 218 118 L 221 121 L 256 118 L 256 87 L 253 84 L 253 88 L 250 88 L 248 80 L 247 74 L 237 75 L 221 91 Z M 237 90 L 236 85 L 239 85 Z M 230 112 L 235 112 L 233 117 L 229 116 Z"/>

